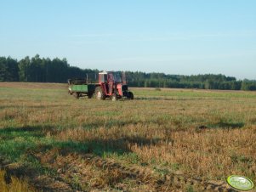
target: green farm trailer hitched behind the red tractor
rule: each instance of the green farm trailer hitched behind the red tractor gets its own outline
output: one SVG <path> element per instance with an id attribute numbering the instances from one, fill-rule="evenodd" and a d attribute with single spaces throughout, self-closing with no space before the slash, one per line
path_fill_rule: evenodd
<path id="1" fill-rule="evenodd" d="M 75 98 L 88 96 L 88 98 L 92 98 L 95 93 L 95 88 L 99 87 L 99 85 L 94 83 L 87 83 L 82 80 L 68 80 L 68 93 L 74 95 Z"/>

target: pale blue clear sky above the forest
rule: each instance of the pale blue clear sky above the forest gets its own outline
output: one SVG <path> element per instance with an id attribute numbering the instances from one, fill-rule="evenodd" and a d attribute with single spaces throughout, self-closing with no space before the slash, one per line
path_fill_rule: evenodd
<path id="1" fill-rule="evenodd" d="M 255 0 L 0 0 L 0 56 L 256 79 Z"/>

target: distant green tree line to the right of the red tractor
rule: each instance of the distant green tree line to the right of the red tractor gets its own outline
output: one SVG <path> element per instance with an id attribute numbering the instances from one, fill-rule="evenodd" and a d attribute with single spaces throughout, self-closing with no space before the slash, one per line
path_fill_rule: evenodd
<path id="1" fill-rule="evenodd" d="M 247 79 L 237 81 L 236 77 L 221 74 L 180 76 L 126 71 L 126 75 L 131 87 L 256 90 L 256 81 Z"/>

